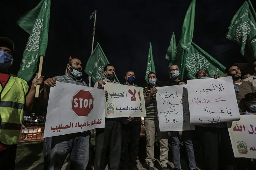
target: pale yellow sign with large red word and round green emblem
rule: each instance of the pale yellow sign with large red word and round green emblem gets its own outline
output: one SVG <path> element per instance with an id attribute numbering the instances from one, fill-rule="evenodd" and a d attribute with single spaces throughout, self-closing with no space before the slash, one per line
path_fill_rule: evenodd
<path id="1" fill-rule="evenodd" d="M 107 118 L 146 116 L 143 88 L 106 83 L 105 90 L 108 92 Z"/>

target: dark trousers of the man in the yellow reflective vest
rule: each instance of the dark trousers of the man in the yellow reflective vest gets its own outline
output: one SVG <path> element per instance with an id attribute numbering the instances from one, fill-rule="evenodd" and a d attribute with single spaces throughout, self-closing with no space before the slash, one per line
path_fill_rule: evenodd
<path id="1" fill-rule="evenodd" d="M 3 151 L 0 151 L 0 169 L 14 170 L 17 145 L 13 145 Z"/>

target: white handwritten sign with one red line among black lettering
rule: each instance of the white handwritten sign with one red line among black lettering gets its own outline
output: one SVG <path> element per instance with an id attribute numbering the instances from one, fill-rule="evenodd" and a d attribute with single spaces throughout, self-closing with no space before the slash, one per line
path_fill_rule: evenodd
<path id="1" fill-rule="evenodd" d="M 232 77 L 187 80 L 187 86 L 192 124 L 240 119 Z"/>

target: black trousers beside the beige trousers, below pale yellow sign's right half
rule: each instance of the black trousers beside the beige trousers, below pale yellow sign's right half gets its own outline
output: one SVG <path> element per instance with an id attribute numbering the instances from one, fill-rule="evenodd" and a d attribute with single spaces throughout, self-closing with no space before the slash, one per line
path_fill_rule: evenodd
<path id="1" fill-rule="evenodd" d="M 137 168 L 137 155 L 139 152 L 141 121 L 130 122 L 122 125 L 122 153 L 120 169 L 128 170 Z M 130 148 L 128 147 L 130 141 Z M 130 155 L 129 155 L 130 151 Z"/>

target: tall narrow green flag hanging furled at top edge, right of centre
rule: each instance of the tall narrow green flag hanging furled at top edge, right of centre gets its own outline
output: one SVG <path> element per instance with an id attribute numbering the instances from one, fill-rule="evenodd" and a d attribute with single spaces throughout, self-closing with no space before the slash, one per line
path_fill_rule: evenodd
<path id="1" fill-rule="evenodd" d="M 182 33 L 180 38 L 180 45 L 186 51 L 189 50 L 194 34 L 194 23 L 195 23 L 195 0 L 193 0 L 184 18 Z"/>

